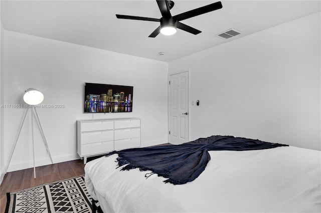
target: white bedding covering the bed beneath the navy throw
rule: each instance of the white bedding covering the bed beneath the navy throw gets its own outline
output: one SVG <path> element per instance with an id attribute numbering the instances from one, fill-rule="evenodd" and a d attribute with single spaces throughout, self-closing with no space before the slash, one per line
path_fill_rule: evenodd
<path id="1" fill-rule="evenodd" d="M 89 193 L 107 212 L 320 212 L 321 152 L 282 146 L 210 151 L 205 171 L 182 185 L 115 168 L 117 154 L 85 166 Z M 95 194 L 97 193 L 97 196 Z"/>

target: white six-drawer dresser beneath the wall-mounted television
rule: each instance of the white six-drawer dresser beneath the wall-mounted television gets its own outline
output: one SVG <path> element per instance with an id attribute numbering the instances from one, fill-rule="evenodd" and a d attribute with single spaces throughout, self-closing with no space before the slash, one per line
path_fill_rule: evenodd
<path id="1" fill-rule="evenodd" d="M 77 153 L 84 158 L 140 146 L 140 118 L 77 120 Z"/>

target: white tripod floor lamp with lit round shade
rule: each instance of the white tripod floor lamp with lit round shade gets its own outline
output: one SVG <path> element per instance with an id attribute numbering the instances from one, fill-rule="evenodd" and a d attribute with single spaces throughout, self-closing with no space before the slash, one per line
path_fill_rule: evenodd
<path id="1" fill-rule="evenodd" d="M 40 132 L 41 132 L 41 135 L 42 135 L 42 138 L 44 139 L 44 143 L 46 145 L 46 148 L 47 148 L 47 152 L 50 156 L 50 159 L 51 159 L 51 163 L 53 163 L 52 161 L 52 157 L 51 157 L 51 154 L 50 154 L 50 151 L 49 151 L 49 148 L 48 148 L 48 143 L 47 143 L 47 140 L 46 140 L 46 137 L 45 137 L 45 134 L 44 134 L 44 131 L 42 130 L 42 127 L 41 127 L 41 124 L 40 124 L 40 120 L 39 120 L 39 117 L 38 117 L 38 114 L 37 114 L 37 111 L 36 111 L 36 108 L 34 105 L 37 105 L 37 104 L 40 104 L 42 101 L 44 100 L 44 95 L 37 89 L 34 89 L 34 88 L 29 88 L 26 90 L 26 93 L 24 94 L 24 101 L 29 104 L 29 106 L 27 107 L 26 111 L 25 111 L 25 114 L 24 114 L 24 117 L 23 117 L 23 120 L 20 124 L 20 127 L 19 127 L 19 130 L 18 130 L 18 134 L 17 134 L 17 137 L 16 137 L 16 140 L 15 140 L 15 143 L 14 143 L 14 147 L 11 151 L 11 154 L 10 154 L 10 158 L 9 158 L 9 162 L 7 164 L 7 168 L 6 168 L 6 173 L 8 171 L 8 167 L 9 167 L 9 164 L 11 162 L 11 158 L 12 158 L 12 155 L 14 154 L 14 151 L 15 151 L 15 148 L 16 148 L 16 145 L 17 145 L 17 142 L 18 142 L 18 139 L 19 139 L 19 136 L 20 136 L 20 132 L 21 132 L 21 129 L 24 125 L 24 122 L 25 122 L 25 118 L 26 118 L 26 115 L 27 115 L 27 112 L 31 109 L 31 129 L 32 129 L 32 151 L 33 151 L 33 159 L 34 159 L 34 177 L 36 178 L 36 166 L 35 166 L 35 143 L 34 143 L 34 127 L 33 127 L 33 115 L 35 114 L 36 115 L 36 119 L 37 119 L 37 123 L 38 123 L 38 126 L 39 126 L 39 129 L 40 129 Z"/>

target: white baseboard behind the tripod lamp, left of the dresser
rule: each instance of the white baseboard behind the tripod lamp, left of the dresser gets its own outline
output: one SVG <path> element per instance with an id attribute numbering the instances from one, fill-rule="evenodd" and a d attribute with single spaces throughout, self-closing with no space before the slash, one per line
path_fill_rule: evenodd
<path id="1" fill-rule="evenodd" d="M 67 154 L 67 155 L 60 155 L 60 156 L 53 156 L 52 160 L 54 163 L 58 162 L 65 162 L 69 160 L 75 160 L 79 159 L 79 155 L 77 153 L 73 154 Z M 42 165 L 48 165 L 51 164 L 50 158 L 40 158 L 40 159 L 35 159 L 35 165 L 37 166 L 42 166 Z M 6 168 L 7 165 L 5 165 Z M 26 168 L 32 168 L 34 167 L 34 161 L 33 160 L 26 160 L 26 161 L 21 161 L 21 162 L 14 162 L 11 163 L 8 167 L 8 172 L 10 171 L 17 171 L 21 169 L 26 169 Z M 4 171 L 6 172 L 6 171 Z"/>

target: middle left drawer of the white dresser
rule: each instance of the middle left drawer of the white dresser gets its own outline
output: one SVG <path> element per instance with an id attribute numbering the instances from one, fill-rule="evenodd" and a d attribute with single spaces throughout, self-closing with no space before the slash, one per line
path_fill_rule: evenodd
<path id="1" fill-rule="evenodd" d="M 92 131 L 81 133 L 81 144 L 114 140 L 114 131 Z"/>

